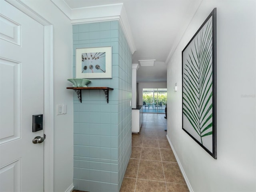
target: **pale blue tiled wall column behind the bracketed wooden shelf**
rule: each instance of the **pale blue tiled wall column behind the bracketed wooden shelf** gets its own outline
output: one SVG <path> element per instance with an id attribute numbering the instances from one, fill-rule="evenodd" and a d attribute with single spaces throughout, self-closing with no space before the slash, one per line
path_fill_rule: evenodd
<path id="1" fill-rule="evenodd" d="M 74 187 L 89 192 L 118 192 L 131 154 L 132 54 L 118 21 L 73 26 L 73 75 L 76 48 L 112 46 L 112 79 L 91 79 L 74 92 Z"/>

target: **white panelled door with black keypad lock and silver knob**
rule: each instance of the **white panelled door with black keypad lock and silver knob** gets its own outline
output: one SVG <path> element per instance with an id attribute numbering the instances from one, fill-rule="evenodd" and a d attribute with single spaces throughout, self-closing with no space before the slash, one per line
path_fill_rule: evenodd
<path id="1" fill-rule="evenodd" d="M 44 26 L 0 0 L 0 192 L 44 191 Z"/>

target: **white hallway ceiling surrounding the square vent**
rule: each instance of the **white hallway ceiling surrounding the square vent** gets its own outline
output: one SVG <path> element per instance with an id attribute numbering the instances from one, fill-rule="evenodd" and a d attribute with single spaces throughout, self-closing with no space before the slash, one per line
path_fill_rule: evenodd
<path id="1" fill-rule="evenodd" d="M 64 0 L 71 9 L 123 3 L 135 52 L 132 63 L 140 66 L 137 82 L 166 82 L 167 63 L 202 0 Z M 181 54 L 181 53 L 180 53 Z"/>

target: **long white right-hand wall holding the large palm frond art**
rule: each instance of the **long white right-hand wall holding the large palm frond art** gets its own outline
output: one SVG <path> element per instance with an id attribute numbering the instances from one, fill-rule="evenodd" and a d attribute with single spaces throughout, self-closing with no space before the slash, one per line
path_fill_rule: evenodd
<path id="1" fill-rule="evenodd" d="M 217 8 L 217 160 L 182 130 L 182 50 Z M 194 192 L 256 191 L 256 1 L 204 0 L 168 63 L 167 134 Z M 178 91 L 173 87 L 178 83 Z"/>

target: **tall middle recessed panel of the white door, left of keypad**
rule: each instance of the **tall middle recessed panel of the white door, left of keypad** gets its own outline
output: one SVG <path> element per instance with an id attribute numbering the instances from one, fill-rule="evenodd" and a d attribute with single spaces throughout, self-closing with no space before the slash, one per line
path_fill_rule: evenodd
<path id="1" fill-rule="evenodd" d="M 20 138 L 20 63 L 3 58 L 0 63 L 0 144 L 3 144 Z"/>

